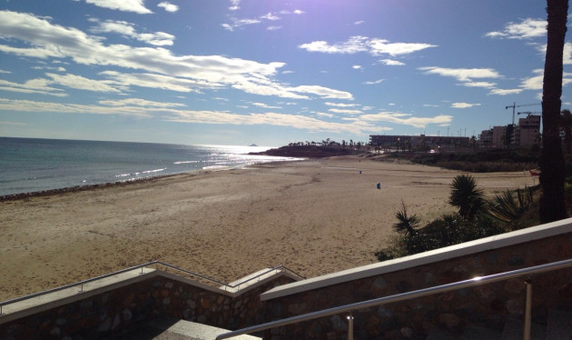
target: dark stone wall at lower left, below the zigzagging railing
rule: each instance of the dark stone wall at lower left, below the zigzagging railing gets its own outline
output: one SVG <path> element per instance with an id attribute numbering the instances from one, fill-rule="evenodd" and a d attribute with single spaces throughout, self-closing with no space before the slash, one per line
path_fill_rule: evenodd
<path id="1" fill-rule="evenodd" d="M 280 276 L 232 297 L 157 275 L 0 325 L 0 340 L 102 339 L 163 315 L 227 329 L 256 325 L 265 310 L 261 293 L 293 281 Z"/>

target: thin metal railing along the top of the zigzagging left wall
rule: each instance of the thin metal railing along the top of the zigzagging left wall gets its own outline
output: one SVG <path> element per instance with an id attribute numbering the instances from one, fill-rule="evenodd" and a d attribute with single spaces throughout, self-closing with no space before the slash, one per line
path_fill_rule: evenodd
<path id="1" fill-rule="evenodd" d="M 230 284 L 223 283 L 222 281 L 219 281 L 219 280 L 214 279 L 214 278 L 212 278 L 212 277 L 205 276 L 205 275 L 201 275 L 201 274 L 197 274 L 197 273 L 194 273 L 194 272 L 189 271 L 189 270 L 186 270 L 186 269 L 182 269 L 181 267 L 178 267 L 178 266 L 176 266 L 176 265 L 170 265 L 170 264 L 164 263 L 164 262 L 162 262 L 162 261 L 152 261 L 152 262 L 148 262 L 148 263 L 142 264 L 142 265 L 134 265 L 134 266 L 132 266 L 132 267 L 129 267 L 129 268 L 126 268 L 126 269 L 122 269 L 122 270 L 118 270 L 118 271 L 113 272 L 113 273 L 110 273 L 110 274 L 105 274 L 105 275 L 100 275 L 100 276 L 92 277 L 92 278 L 89 278 L 89 279 L 84 280 L 84 281 L 76 282 L 76 283 L 74 283 L 74 284 L 62 285 L 62 286 L 59 286 L 59 287 L 56 287 L 56 288 L 53 288 L 53 289 L 44 290 L 44 291 L 42 291 L 42 292 L 38 292 L 38 293 L 35 293 L 35 294 L 25 295 L 25 296 L 21 296 L 21 297 L 16 297 L 16 298 L 11 299 L 11 300 L 6 300 L 6 301 L 3 301 L 3 302 L 0 302 L 0 316 L 3 315 L 2 308 L 3 308 L 5 305 L 15 304 L 15 303 L 17 303 L 17 302 L 25 301 L 25 300 L 27 300 L 27 299 L 31 299 L 31 298 L 34 298 L 34 297 L 37 297 L 37 296 L 48 295 L 48 294 L 51 294 L 51 293 L 59 292 L 59 291 L 62 291 L 62 290 L 64 290 L 64 289 L 73 288 L 73 287 L 80 287 L 80 290 L 79 290 L 78 293 L 83 293 L 83 292 L 84 292 L 84 285 L 85 285 L 85 284 L 89 284 L 89 283 L 91 283 L 91 282 L 94 282 L 94 281 L 97 281 L 97 280 L 101 280 L 101 279 L 104 279 L 104 278 L 106 278 L 106 277 L 111 277 L 111 276 L 113 276 L 113 275 L 119 275 L 119 274 L 131 272 L 131 271 L 136 270 L 136 269 L 141 269 L 140 275 L 143 275 L 143 268 L 148 267 L 148 266 L 151 266 L 151 265 L 163 265 L 163 266 L 166 266 L 166 267 L 168 267 L 168 268 L 171 268 L 171 269 L 174 269 L 174 270 L 176 270 L 176 271 L 185 273 L 185 274 L 187 274 L 187 275 L 192 275 L 192 276 L 201 278 L 202 280 L 206 280 L 206 281 L 211 282 L 211 283 L 213 283 L 213 284 L 221 285 L 221 286 L 224 287 L 224 290 L 226 290 L 227 288 L 230 288 L 230 289 L 238 288 L 237 290 L 240 290 L 240 289 L 241 289 L 241 288 L 240 288 L 241 285 L 250 283 L 250 282 L 253 281 L 253 280 L 259 280 L 259 281 L 260 281 L 261 276 L 270 274 L 270 273 L 273 272 L 273 271 L 275 271 L 276 273 L 279 273 L 279 272 L 281 272 L 281 271 L 287 271 L 287 272 L 291 273 L 292 275 L 296 275 L 296 276 L 300 277 L 301 279 L 305 279 L 304 276 L 301 276 L 301 275 L 295 273 L 295 272 L 292 271 L 291 269 L 289 269 L 289 268 L 287 268 L 287 267 L 285 267 L 285 266 L 283 266 L 283 265 L 277 265 L 277 266 L 275 266 L 275 267 L 273 267 L 273 268 L 270 268 L 270 269 L 268 269 L 268 270 L 266 270 L 266 271 L 260 273 L 259 275 L 252 276 L 252 277 L 250 277 L 250 278 L 248 278 L 248 279 L 246 279 L 246 280 L 244 280 L 244 281 L 241 281 L 241 282 L 239 282 L 239 283 L 237 283 L 237 284 L 230 285 Z"/>

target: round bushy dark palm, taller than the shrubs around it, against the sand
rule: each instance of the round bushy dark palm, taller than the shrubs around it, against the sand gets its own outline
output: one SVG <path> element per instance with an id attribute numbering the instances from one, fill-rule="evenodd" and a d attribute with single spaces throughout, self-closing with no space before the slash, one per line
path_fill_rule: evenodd
<path id="1" fill-rule="evenodd" d="M 456 176 L 450 188 L 449 204 L 459 207 L 461 217 L 472 220 L 483 209 L 483 191 L 477 188 L 475 178 L 471 175 Z"/>

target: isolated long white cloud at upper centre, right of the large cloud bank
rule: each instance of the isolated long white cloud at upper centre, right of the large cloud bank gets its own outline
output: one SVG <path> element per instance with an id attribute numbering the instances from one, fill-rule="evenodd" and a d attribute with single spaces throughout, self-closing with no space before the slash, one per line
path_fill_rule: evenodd
<path id="1" fill-rule="evenodd" d="M 308 44 L 299 45 L 301 49 L 308 52 L 321 52 L 328 54 L 348 54 L 353 55 L 359 52 L 368 52 L 370 55 L 409 55 L 420 50 L 436 47 L 437 45 L 429 44 L 409 44 L 409 43 L 390 43 L 388 40 L 355 35 L 351 36 L 346 42 L 340 42 L 333 45 L 325 41 L 314 41 Z"/>

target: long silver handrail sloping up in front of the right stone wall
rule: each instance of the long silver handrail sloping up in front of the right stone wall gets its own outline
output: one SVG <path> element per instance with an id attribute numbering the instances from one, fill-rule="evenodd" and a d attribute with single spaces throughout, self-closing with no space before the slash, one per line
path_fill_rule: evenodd
<path id="1" fill-rule="evenodd" d="M 492 284 L 494 282 L 505 281 L 505 280 L 508 280 L 511 278 L 521 277 L 524 275 L 535 275 L 535 274 L 555 271 L 558 269 L 563 269 L 563 268 L 567 268 L 567 267 L 571 267 L 571 266 L 572 266 L 572 259 L 568 259 L 568 260 L 553 262 L 553 263 L 546 264 L 546 265 L 535 265 L 535 266 L 531 266 L 528 268 L 522 268 L 522 269 L 513 270 L 513 271 L 509 271 L 509 272 L 504 272 L 504 273 L 499 273 L 499 274 L 474 277 L 474 278 L 471 278 L 468 280 L 459 281 L 459 282 L 447 284 L 447 285 L 435 285 L 435 286 L 432 286 L 429 288 L 423 288 L 423 289 L 411 291 L 408 293 L 384 296 L 384 297 L 380 297 L 380 298 L 376 298 L 376 299 L 372 299 L 372 300 L 367 300 L 367 301 L 362 301 L 362 302 L 354 303 L 354 304 L 350 304 L 350 305 L 341 305 L 338 307 L 328 308 L 328 309 L 324 309 L 324 310 L 321 310 L 318 312 L 312 312 L 312 313 L 308 313 L 308 314 L 304 314 L 304 315 L 291 316 L 291 317 L 288 317 L 285 319 L 272 321 L 272 322 L 261 324 L 261 325 L 253 325 L 250 327 L 245 327 L 245 328 L 242 328 L 242 329 L 239 329 L 236 331 L 232 331 L 229 333 L 224 333 L 222 335 L 218 335 L 216 337 L 216 340 L 226 339 L 226 338 L 229 338 L 232 336 L 237 336 L 237 335 L 247 335 L 247 334 L 251 334 L 251 333 L 255 333 L 255 332 L 261 332 L 261 331 L 271 329 L 274 327 L 278 327 L 281 325 L 296 324 L 296 323 L 299 323 L 302 321 L 309 321 L 309 320 L 317 319 L 317 318 L 324 317 L 324 316 L 330 316 L 330 315 L 337 315 L 337 314 L 341 314 L 341 313 L 352 312 L 354 310 L 370 308 L 370 307 L 377 306 L 377 305 L 390 304 L 390 303 L 399 302 L 399 301 L 403 301 L 403 300 L 413 299 L 416 297 L 445 293 L 445 292 L 449 292 L 452 290 L 459 290 L 459 289 L 468 288 L 468 287 L 472 287 L 472 286 L 476 286 L 476 285 Z"/>

